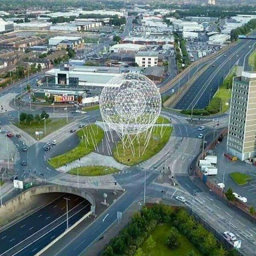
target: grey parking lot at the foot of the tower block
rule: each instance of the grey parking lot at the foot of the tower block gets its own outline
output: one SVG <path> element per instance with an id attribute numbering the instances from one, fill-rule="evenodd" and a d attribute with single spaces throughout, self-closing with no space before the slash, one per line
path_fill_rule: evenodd
<path id="1" fill-rule="evenodd" d="M 225 190 L 232 188 L 233 192 L 247 198 L 247 203 L 256 207 L 256 166 L 252 166 L 242 161 L 230 161 L 223 154 L 226 153 L 227 137 L 215 148 L 217 153 L 217 167 L 218 174 L 212 177 L 207 177 L 212 181 L 219 183 L 223 181 Z M 232 172 L 241 172 L 251 175 L 252 179 L 249 180 L 245 185 L 238 186 L 236 182 L 230 177 Z"/>

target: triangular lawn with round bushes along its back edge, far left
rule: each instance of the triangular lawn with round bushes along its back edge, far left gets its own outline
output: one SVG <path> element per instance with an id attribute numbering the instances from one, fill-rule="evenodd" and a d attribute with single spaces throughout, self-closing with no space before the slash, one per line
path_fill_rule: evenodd
<path id="1" fill-rule="evenodd" d="M 44 138 L 45 135 L 49 135 L 52 132 L 55 132 L 59 130 L 61 127 L 65 126 L 67 124 L 66 118 L 65 119 L 47 119 L 46 120 L 46 134 L 44 133 L 44 121 L 42 120 L 40 123 L 33 121 L 30 123 L 15 123 L 17 127 L 19 127 L 21 130 L 25 131 L 27 134 L 29 134 L 31 137 L 36 138 L 35 132 L 42 131 L 43 134 L 41 137 L 39 137 L 39 140 Z"/>

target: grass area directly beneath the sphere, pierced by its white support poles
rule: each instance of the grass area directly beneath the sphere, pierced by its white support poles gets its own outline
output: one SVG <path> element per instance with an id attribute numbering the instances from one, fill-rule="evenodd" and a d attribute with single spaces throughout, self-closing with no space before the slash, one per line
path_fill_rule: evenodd
<path id="1" fill-rule="evenodd" d="M 162 138 L 161 138 L 161 131 L 162 131 Z M 145 133 L 140 134 L 139 142 L 137 139 L 133 140 L 133 152 L 131 146 L 129 147 L 129 140 L 126 142 L 126 146 L 123 151 L 123 143 L 119 141 L 117 143 L 117 147 L 114 149 L 114 158 L 119 163 L 125 164 L 125 165 L 134 165 L 138 164 L 140 162 L 143 162 L 150 157 L 156 155 L 167 143 L 170 136 L 172 134 L 172 127 L 170 126 L 163 126 L 163 129 L 161 129 L 161 126 L 155 126 L 154 130 L 152 131 L 148 147 L 145 150 L 145 153 L 142 155 L 145 146 Z M 131 138 L 134 138 L 134 135 L 131 136 Z"/>

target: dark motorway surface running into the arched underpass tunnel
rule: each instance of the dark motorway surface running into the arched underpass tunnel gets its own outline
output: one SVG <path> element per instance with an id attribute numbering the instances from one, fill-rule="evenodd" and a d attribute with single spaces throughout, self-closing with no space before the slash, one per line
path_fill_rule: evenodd
<path id="1" fill-rule="evenodd" d="M 66 229 L 66 200 L 69 226 L 90 211 L 91 204 L 82 197 L 61 195 L 42 209 L 0 232 L 0 255 L 34 255 Z M 19 235 L 18 235 L 19 234 Z"/>

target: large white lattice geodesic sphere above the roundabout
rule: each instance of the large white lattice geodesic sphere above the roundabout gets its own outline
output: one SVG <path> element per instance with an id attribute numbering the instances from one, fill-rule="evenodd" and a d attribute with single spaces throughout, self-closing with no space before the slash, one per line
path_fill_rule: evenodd
<path id="1" fill-rule="evenodd" d="M 113 77 L 100 94 L 103 122 L 121 134 L 148 130 L 155 124 L 161 106 L 161 95 L 156 85 L 137 73 Z"/>

